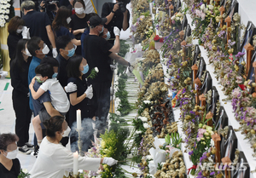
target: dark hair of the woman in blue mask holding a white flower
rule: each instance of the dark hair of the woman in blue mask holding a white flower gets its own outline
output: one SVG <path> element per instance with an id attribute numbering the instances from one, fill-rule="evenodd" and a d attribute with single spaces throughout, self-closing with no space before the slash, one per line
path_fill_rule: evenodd
<path id="1" fill-rule="evenodd" d="M 68 78 L 79 78 L 81 76 L 81 72 L 79 70 L 79 66 L 83 60 L 82 55 L 75 55 L 69 58 L 67 63 L 67 77 Z"/>

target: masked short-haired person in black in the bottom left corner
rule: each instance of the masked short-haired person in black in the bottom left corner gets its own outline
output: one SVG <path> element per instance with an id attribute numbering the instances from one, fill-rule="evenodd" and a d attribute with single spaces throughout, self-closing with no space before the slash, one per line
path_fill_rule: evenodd
<path id="1" fill-rule="evenodd" d="M 17 178 L 20 175 L 20 161 L 16 158 L 18 150 L 15 134 L 0 135 L 0 175 L 1 178 Z"/>

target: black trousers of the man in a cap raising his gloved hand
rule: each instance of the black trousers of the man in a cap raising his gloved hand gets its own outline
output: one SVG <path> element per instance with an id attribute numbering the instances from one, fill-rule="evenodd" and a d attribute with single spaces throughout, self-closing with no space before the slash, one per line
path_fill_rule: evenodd
<path id="1" fill-rule="evenodd" d="M 92 83 L 94 98 L 96 97 L 96 129 L 104 129 L 107 124 L 108 112 L 110 108 L 110 86 L 111 81 L 102 83 Z"/>

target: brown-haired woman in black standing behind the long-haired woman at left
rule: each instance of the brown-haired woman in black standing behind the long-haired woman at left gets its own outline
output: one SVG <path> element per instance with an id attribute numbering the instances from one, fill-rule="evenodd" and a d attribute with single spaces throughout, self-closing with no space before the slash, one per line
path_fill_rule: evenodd
<path id="1" fill-rule="evenodd" d="M 19 16 L 13 17 L 9 21 L 8 32 L 9 36 L 7 38 L 7 45 L 9 49 L 9 58 L 10 61 L 15 59 L 16 55 L 16 46 L 20 39 L 22 39 L 22 28 L 25 26 L 25 21 L 21 19 Z"/>

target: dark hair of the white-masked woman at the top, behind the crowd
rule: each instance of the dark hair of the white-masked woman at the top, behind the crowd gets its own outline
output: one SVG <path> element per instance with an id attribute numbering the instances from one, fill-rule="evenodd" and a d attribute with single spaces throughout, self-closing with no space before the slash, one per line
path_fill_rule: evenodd
<path id="1" fill-rule="evenodd" d="M 70 17 L 72 14 L 72 11 L 70 9 L 67 9 L 66 6 L 61 6 L 61 8 L 58 10 L 55 19 L 52 22 L 52 28 L 54 32 L 59 30 L 61 26 L 69 28 L 67 24 L 67 17 Z"/>

